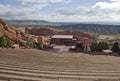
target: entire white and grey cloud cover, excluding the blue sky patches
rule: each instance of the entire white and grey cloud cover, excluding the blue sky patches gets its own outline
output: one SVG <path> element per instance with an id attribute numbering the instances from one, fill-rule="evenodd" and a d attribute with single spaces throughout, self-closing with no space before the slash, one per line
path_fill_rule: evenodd
<path id="1" fill-rule="evenodd" d="M 49 21 L 119 21 L 120 0 L 98 2 L 91 7 L 62 7 L 52 13 L 42 14 L 44 7 L 71 0 L 19 0 L 22 6 L 0 4 L 0 17 L 5 19 L 33 19 Z"/>

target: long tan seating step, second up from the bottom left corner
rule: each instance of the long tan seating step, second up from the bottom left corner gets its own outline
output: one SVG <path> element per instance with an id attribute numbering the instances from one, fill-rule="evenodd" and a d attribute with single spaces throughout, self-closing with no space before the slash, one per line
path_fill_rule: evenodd
<path id="1" fill-rule="evenodd" d="M 24 71 L 14 71 L 14 70 L 1 70 L 1 73 L 14 73 L 14 74 L 22 74 L 22 75 L 35 75 L 35 76 L 42 76 L 42 75 L 53 75 L 53 76 L 112 76 L 112 77 L 120 77 L 120 73 L 69 73 L 69 72 L 39 72 L 39 73 L 35 73 L 35 72 L 24 72 Z"/>

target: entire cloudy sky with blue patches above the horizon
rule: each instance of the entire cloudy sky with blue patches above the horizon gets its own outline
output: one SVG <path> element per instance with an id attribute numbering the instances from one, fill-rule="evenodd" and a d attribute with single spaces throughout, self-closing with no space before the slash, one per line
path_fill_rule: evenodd
<path id="1" fill-rule="evenodd" d="M 119 22 L 120 0 L 0 0 L 0 17 L 51 22 Z"/>

